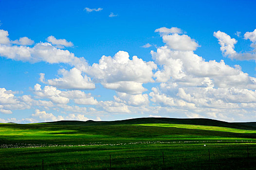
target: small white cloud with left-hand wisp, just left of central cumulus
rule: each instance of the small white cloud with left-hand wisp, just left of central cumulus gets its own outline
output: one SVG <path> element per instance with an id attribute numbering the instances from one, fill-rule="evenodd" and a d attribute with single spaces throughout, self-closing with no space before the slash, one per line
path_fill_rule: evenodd
<path id="1" fill-rule="evenodd" d="M 86 75 L 82 75 L 82 72 L 77 68 L 72 68 L 70 71 L 60 69 L 58 71 L 62 75 L 62 78 L 55 78 L 50 80 L 44 80 L 44 74 L 40 73 L 40 81 L 47 85 L 53 85 L 62 89 L 94 89 L 95 85 L 91 82 L 91 79 Z"/>

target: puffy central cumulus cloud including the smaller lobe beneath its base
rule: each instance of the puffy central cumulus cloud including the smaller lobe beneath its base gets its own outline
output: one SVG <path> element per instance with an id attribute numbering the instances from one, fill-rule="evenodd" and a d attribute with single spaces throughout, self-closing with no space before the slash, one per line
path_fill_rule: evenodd
<path id="1" fill-rule="evenodd" d="M 113 58 L 102 56 L 98 64 L 94 63 L 87 70 L 87 74 L 106 88 L 135 94 L 146 91 L 143 83 L 154 82 L 152 70 L 156 68 L 151 61 L 145 62 L 137 56 L 130 60 L 128 52 L 119 51 Z"/>

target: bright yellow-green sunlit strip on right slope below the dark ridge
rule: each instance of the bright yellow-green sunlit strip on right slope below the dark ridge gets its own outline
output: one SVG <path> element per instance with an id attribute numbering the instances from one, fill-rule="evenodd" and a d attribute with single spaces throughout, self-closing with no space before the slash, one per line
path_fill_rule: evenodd
<path id="1" fill-rule="evenodd" d="M 148 124 L 133 124 L 136 126 L 157 126 L 157 127 L 174 127 L 184 129 L 200 129 L 209 131 L 221 131 L 221 132 L 233 132 L 242 134 L 255 134 L 255 130 L 242 130 L 235 128 L 219 127 L 219 126 L 204 126 L 204 125 L 192 125 L 192 124 L 168 124 L 168 123 L 148 123 Z"/>

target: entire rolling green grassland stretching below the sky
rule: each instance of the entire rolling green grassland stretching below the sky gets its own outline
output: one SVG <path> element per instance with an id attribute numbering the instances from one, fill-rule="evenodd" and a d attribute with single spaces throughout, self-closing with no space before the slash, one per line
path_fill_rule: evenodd
<path id="1" fill-rule="evenodd" d="M 256 127 L 168 118 L 0 124 L 1 170 L 41 170 L 42 159 L 44 170 L 106 170 L 110 155 L 111 170 L 254 170 Z"/>

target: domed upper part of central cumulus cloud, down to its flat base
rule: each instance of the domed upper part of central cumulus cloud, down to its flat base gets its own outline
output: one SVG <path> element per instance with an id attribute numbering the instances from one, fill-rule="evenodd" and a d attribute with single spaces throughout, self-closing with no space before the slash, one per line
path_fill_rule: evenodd
<path id="1" fill-rule="evenodd" d="M 114 57 L 102 56 L 99 64 L 94 63 L 88 74 L 100 82 L 115 83 L 120 81 L 153 82 L 152 70 L 157 66 L 153 62 L 145 62 L 137 56 L 129 60 L 128 52 L 119 51 Z"/>

